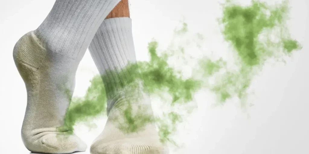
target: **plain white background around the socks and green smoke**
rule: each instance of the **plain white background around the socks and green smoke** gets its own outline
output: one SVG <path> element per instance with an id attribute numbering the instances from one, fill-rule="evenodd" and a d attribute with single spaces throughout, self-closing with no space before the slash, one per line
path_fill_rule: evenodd
<path id="1" fill-rule="evenodd" d="M 209 41 L 209 49 L 217 52 L 226 49 L 222 47 L 215 20 L 222 12 L 218 2 L 132 0 L 131 18 L 137 59 L 147 60 L 146 47 L 152 38 L 164 48 L 183 17 L 189 31 L 204 34 L 205 41 Z M 241 2 L 250 3 L 249 0 Z M 40 25 L 53 3 L 54 0 L 0 2 L 0 150 L 3 154 L 29 153 L 20 137 L 26 89 L 14 65 L 12 50 L 23 34 Z M 179 138 L 182 138 L 179 142 L 185 143 L 185 146 L 173 153 L 309 153 L 308 1 L 293 0 L 290 6 L 290 32 L 303 44 L 303 49 L 290 57 L 286 64 L 265 66 L 252 83 L 255 94 L 251 103 L 254 106 L 247 113 L 243 113 L 237 103 L 212 107 L 215 103 L 212 96 L 197 95 L 198 112 L 186 123 L 190 127 L 179 133 Z M 78 68 L 74 95 L 83 96 L 95 74 L 96 67 L 87 51 Z M 90 146 L 103 129 L 104 120 L 101 119 L 99 127 L 91 132 L 78 129 L 78 136 Z M 89 149 L 84 153 L 89 153 Z"/>

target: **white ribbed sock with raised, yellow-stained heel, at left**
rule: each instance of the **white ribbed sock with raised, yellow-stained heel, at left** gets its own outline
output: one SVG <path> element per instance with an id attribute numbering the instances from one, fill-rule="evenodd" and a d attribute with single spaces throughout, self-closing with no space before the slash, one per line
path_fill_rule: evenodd
<path id="1" fill-rule="evenodd" d="M 80 60 L 120 0 L 56 0 L 43 23 L 15 44 L 13 58 L 27 90 L 21 136 L 38 153 L 85 151 L 64 124 Z"/>

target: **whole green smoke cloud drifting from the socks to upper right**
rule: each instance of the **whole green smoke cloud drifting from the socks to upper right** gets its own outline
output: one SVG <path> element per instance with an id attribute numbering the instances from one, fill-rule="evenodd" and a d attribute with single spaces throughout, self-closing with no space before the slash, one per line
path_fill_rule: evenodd
<path id="1" fill-rule="evenodd" d="M 301 48 L 300 44 L 290 37 L 286 27 L 288 1 L 275 6 L 259 1 L 252 1 L 250 6 L 241 6 L 226 1 L 222 4 L 222 10 L 219 26 L 222 26 L 225 41 L 231 46 L 229 52 L 234 55 L 233 69 L 222 58 L 212 60 L 205 56 L 202 58 L 188 56 L 187 53 L 192 51 L 188 51 L 186 47 L 192 44 L 199 47 L 204 39 L 201 34 L 187 38 L 185 34 L 188 34 L 188 25 L 183 23 L 180 30 L 175 30 L 173 38 L 175 40 L 172 40 L 166 50 L 159 51 L 159 43 L 153 40 L 148 44 L 149 61 L 130 64 L 124 69 L 129 71 L 117 72 L 122 78 L 127 77 L 129 73 L 132 78 L 130 80 L 126 78 L 128 82 L 110 81 L 114 84 L 118 82 L 115 84 L 115 89 L 125 89 L 126 95 L 137 93 L 129 85 L 143 81 L 145 89 L 151 96 L 159 96 L 170 109 L 155 118 L 143 114 L 132 115 L 131 106 L 134 102 L 127 102 L 127 106 L 123 108 L 125 121 L 119 123 L 121 129 L 134 132 L 147 122 L 155 121 L 161 141 L 177 145 L 172 135 L 177 131 L 177 124 L 187 117 L 189 111 L 185 110 L 194 103 L 193 96 L 197 91 L 201 89 L 212 91 L 218 97 L 219 104 L 224 104 L 231 98 L 238 98 L 242 107 L 246 107 L 248 88 L 265 63 L 270 59 L 283 60 Z M 181 44 L 178 45 L 179 39 L 188 40 L 189 43 L 178 43 Z M 197 62 L 190 66 L 192 75 L 184 77 L 183 73 L 176 69 L 177 66 L 169 63 L 173 58 L 182 59 L 177 64 L 180 68 L 187 62 Z M 106 74 L 112 73 L 116 72 Z M 210 82 L 210 79 L 214 79 L 214 82 Z M 166 94 L 171 96 L 171 99 L 166 97 Z M 106 114 L 106 92 L 101 76 L 96 75 L 91 79 L 86 95 L 83 98 L 72 99 L 64 127 L 73 131 L 74 125 L 78 122 L 89 122 L 104 114 Z M 124 123 L 129 127 L 124 127 Z"/>

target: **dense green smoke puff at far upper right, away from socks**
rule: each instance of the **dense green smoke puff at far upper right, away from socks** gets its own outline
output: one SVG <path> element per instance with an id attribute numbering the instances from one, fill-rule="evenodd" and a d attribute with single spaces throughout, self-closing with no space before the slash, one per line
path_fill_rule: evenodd
<path id="1" fill-rule="evenodd" d="M 236 71 L 225 68 L 211 89 L 220 102 L 238 97 L 245 106 L 247 90 L 253 77 L 269 59 L 281 60 L 299 43 L 290 38 L 286 28 L 288 1 L 277 6 L 252 1 L 250 6 L 238 6 L 227 1 L 223 6 L 222 34 L 233 47 Z"/>

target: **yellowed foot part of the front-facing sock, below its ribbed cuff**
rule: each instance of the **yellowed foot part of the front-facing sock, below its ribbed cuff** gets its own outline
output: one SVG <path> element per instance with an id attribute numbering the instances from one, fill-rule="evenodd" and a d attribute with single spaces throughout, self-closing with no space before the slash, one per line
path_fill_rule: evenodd
<path id="1" fill-rule="evenodd" d="M 151 121 L 148 96 L 134 95 L 122 94 L 114 102 L 109 101 L 115 105 L 109 111 L 103 132 L 91 145 L 91 154 L 167 154 Z"/>

